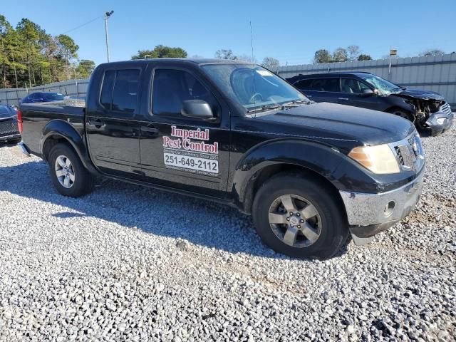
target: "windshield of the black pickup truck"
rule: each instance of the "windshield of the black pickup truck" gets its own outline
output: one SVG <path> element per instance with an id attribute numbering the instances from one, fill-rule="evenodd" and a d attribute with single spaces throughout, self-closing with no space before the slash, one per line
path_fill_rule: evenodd
<path id="1" fill-rule="evenodd" d="M 246 113 L 310 102 L 289 83 L 261 66 L 233 63 L 207 64 L 202 68 L 223 93 L 242 105 Z"/>

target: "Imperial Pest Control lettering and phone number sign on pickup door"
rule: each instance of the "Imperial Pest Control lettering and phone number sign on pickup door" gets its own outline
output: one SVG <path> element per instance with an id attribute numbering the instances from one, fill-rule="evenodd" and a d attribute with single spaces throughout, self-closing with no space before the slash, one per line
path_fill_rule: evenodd
<path id="1" fill-rule="evenodd" d="M 172 170 L 215 176 L 219 173 L 219 143 L 207 142 L 209 129 L 185 130 L 171 126 L 163 137 L 163 162 Z"/>

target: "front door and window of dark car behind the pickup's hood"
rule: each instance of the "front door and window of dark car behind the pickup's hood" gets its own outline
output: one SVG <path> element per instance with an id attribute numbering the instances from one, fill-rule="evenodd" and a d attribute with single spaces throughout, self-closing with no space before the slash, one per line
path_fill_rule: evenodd
<path id="1" fill-rule="evenodd" d="M 358 81 L 356 78 L 343 77 L 341 79 L 341 94 L 338 96 L 339 103 L 379 110 L 378 96 L 363 94 L 366 89 L 373 90 L 366 83 Z"/>

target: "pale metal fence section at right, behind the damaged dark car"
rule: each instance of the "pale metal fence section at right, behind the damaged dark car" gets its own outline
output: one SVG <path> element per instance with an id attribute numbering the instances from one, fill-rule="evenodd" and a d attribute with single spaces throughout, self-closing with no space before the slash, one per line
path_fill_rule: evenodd
<path id="1" fill-rule="evenodd" d="M 367 71 L 407 88 L 437 91 L 456 108 L 456 53 L 443 56 L 395 58 L 377 61 L 279 66 L 284 78 L 309 73 Z"/>

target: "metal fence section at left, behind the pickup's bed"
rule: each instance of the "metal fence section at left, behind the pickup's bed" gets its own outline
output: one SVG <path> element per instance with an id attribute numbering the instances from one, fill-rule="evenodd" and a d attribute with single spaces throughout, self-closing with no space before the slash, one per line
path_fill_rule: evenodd
<path id="1" fill-rule="evenodd" d="M 63 95 L 68 96 L 85 96 L 88 80 L 88 78 L 77 81 L 69 80 L 32 88 L 0 89 L 0 103 L 7 105 L 17 105 L 21 98 L 24 98 L 24 96 L 26 96 L 28 93 L 35 93 L 36 91 L 51 91 L 54 93 L 62 93 Z"/>

